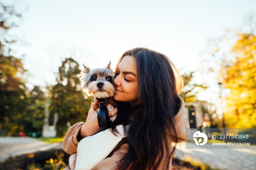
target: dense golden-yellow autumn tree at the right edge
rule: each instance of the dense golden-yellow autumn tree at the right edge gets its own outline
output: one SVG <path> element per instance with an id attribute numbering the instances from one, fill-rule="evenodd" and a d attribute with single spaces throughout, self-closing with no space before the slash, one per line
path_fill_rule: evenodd
<path id="1" fill-rule="evenodd" d="M 256 37 L 237 34 L 234 57 L 222 67 L 222 83 L 230 89 L 226 98 L 225 121 L 231 127 L 256 127 Z"/>

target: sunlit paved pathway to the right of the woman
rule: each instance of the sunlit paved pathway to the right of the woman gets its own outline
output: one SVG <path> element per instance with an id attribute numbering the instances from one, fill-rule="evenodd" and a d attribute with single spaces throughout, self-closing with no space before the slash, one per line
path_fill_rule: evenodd
<path id="1" fill-rule="evenodd" d="M 189 145 L 190 143 L 187 142 Z M 191 144 L 190 144 L 191 145 Z M 208 148 L 212 146 L 209 143 L 205 145 Z M 202 146 L 199 146 L 202 147 Z M 207 163 L 212 168 L 227 170 L 256 170 L 256 146 L 255 149 L 186 149 L 186 143 L 177 144 L 176 155 L 179 159 L 183 159 L 181 151 L 185 157 Z"/>

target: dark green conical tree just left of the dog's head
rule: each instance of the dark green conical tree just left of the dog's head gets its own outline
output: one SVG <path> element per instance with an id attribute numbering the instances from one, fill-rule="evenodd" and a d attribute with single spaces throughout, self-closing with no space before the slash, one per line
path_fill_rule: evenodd
<path id="1" fill-rule="evenodd" d="M 67 123 L 74 125 L 85 121 L 90 109 L 92 97 L 84 96 L 80 86 L 79 64 L 72 58 L 66 58 L 59 67 L 57 84 L 52 87 L 52 104 L 50 116 L 58 114 L 57 135 L 67 132 Z"/>

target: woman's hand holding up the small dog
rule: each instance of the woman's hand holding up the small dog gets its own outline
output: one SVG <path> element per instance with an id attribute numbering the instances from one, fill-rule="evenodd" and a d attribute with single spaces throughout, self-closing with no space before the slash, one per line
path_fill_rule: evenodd
<path id="1" fill-rule="evenodd" d="M 87 136 L 92 136 L 95 133 L 98 133 L 99 131 L 101 131 L 99 129 L 97 113 L 94 111 L 93 108 L 94 108 L 94 103 L 91 104 L 91 108 L 88 112 L 86 122 L 80 130 L 81 139 Z M 109 112 L 109 117 L 116 115 L 116 113 L 117 113 L 117 108 L 114 108 L 113 111 Z"/>

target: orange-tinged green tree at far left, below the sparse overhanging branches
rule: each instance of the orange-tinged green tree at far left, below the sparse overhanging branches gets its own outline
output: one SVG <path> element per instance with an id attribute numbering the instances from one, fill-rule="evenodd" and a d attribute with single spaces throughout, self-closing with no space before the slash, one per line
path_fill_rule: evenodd
<path id="1" fill-rule="evenodd" d="M 24 131 L 26 87 L 24 80 L 18 76 L 23 72 L 25 70 L 20 59 L 0 54 L 0 124 L 9 135 Z"/>

